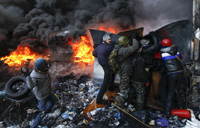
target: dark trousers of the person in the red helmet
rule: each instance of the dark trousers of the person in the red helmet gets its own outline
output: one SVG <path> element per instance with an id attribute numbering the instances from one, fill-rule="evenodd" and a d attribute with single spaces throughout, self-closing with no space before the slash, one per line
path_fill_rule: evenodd
<path id="1" fill-rule="evenodd" d="M 182 87 L 182 78 L 183 78 L 183 73 L 167 75 L 167 98 L 166 98 L 165 109 L 168 115 L 172 107 L 175 92 L 176 92 L 178 106 L 180 107 L 181 105 L 182 101 L 181 101 L 180 91 Z"/>

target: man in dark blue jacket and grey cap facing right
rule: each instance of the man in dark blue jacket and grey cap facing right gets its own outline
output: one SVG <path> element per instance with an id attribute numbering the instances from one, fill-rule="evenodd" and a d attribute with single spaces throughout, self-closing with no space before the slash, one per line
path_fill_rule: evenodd
<path id="1" fill-rule="evenodd" d="M 108 34 L 105 34 L 103 36 L 103 42 L 99 44 L 93 51 L 93 56 L 98 58 L 98 62 L 104 70 L 104 80 L 97 95 L 97 104 L 106 103 L 106 101 L 102 99 L 103 95 L 114 82 L 114 73 L 111 71 L 108 64 L 108 58 L 112 50 L 113 47 L 111 46 L 111 37 Z"/>

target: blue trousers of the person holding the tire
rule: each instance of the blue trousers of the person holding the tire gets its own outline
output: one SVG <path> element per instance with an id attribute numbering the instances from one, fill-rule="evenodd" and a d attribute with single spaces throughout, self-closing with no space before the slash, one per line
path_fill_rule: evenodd
<path id="1" fill-rule="evenodd" d="M 51 94 L 44 100 L 38 100 L 38 106 L 40 113 L 36 116 L 34 123 L 32 124 L 31 128 L 37 128 L 38 124 L 41 122 L 42 112 L 48 113 L 53 108 L 54 104 L 58 101 L 54 94 Z"/>

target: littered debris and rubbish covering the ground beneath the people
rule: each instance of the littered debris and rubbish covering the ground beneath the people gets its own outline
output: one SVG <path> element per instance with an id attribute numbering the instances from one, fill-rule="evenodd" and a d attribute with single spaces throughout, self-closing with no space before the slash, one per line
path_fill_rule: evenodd
<path id="1" fill-rule="evenodd" d="M 77 78 L 71 74 L 58 78 L 54 82 L 53 87 L 53 92 L 59 99 L 59 103 L 54 106 L 51 113 L 43 117 L 40 125 L 42 128 L 197 128 L 200 124 L 200 121 L 195 118 L 192 110 L 190 110 L 191 116 L 189 118 L 183 119 L 180 116 L 174 115 L 167 120 L 159 110 L 148 108 L 148 110 L 135 111 L 134 106 L 130 105 L 127 107 L 127 110 L 122 110 L 111 103 L 105 105 L 103 108 L 96 108 L 84 114 L 83 111 L 96 98 L 100 88 L 100 85 L 93 85 L 88 76 L 83 75 Z M 7 98 L 1 98 L 0 102 L 1 110 L 3 109 L 3 111 L 5 111 L 11 102 L 15 102 L 12 109 L 9 109 L 6 114 L 4 113 L 0 122 L 0 128 L 30 127 L 39 112 L 35 97 L 19 104 Z"/>

